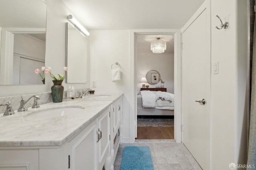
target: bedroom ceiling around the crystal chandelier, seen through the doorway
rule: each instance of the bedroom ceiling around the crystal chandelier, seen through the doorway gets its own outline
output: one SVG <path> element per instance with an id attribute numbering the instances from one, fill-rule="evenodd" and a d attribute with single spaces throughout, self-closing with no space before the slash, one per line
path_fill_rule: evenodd
<path id="1" fill-rule="evenodd" d="M 137 53 L 152 53 L 150 43 L 156 41 L 158 37 L 160 40 L 166 42 L 166 50 L 164 53 L 174 53 L 173 35 L 136 35 Z"/>

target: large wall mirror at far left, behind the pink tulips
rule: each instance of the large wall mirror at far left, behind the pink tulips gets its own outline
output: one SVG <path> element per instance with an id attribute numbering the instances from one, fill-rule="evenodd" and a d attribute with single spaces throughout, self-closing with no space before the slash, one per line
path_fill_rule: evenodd
<path id="1" fill-rule="evenodd" d="M 0 85 L 43 84 L 35 69 L 45 66 L 46 4 L 0 1 Z"/>

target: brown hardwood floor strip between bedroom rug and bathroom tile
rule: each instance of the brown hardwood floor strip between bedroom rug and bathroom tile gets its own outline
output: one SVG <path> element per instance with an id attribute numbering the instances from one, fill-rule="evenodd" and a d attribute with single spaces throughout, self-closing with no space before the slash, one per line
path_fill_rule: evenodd
<path id="1" fill-rule="evenodd" d="M 138 127 L 136 139 L 174 139 L 174 127 Z"/>

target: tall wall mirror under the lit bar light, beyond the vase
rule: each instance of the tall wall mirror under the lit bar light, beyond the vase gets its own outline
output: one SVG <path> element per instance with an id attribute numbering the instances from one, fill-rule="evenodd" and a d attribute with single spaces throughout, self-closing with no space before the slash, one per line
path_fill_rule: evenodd
<path id="1" fill-rule="evenodd" d="M 66 83 L 87 83 L 88 38 L 66 23 Z"/>

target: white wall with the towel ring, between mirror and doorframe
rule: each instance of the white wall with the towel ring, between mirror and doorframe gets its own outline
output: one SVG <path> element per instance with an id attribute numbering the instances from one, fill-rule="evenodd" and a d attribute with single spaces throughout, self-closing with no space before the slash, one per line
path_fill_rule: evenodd
<path id="1" fill-rule="evenodd" d="M 112 82 L 111 65 L 121 65 L 121 81 Z M 90 81 L 96 80 L 95 93 L 124 93 L 123 138 L 130 138 L 129 117 L 129 30 L 90 31 Z"/>

